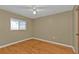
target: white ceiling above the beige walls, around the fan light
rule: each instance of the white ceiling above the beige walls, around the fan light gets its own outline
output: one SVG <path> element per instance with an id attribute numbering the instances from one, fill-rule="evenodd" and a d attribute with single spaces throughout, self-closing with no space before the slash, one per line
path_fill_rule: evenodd
<path id="1" fill-rule="evenodd" d="M 29 18 L 38 18 L 60 12 L 73 10 L 74 5 L 0 5 L 4 9 Z M 36 7 L 37 14 L 33 14 L 33 7 Z"/>

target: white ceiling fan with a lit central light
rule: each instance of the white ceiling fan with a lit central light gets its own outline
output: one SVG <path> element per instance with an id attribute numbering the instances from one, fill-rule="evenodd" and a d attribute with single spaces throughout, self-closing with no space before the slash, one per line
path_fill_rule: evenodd
<path id="1" fill-rule="evenodd" d="M 21 10 L 31 11 L 34 15 L 36 15 L 40 11 L 45 11 L 45 6 L 37 6 L 37 5 L 21 5 L 18 6 Z"/>

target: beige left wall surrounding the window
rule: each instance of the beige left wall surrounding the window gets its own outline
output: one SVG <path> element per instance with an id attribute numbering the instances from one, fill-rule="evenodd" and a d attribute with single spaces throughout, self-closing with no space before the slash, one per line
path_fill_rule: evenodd
<path id="1" fill-rule="evenodd" d="M 10 18 L 20 18 L 27 21 L 27 30 L 25 31 L 11 31 Z M 14 13 L 0 10 L 0 45 L 11 43 L 32 37 L 32 21 L 30 18 L 23 17 Z"/>

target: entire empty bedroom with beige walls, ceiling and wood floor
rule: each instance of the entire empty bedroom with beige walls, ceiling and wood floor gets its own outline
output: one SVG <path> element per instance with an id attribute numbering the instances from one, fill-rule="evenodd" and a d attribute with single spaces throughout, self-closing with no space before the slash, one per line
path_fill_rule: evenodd
<path id="1" fill-rule="evenodd" d="M 78 54 L 79 6 L 0 5 L 0 54 Z"/>

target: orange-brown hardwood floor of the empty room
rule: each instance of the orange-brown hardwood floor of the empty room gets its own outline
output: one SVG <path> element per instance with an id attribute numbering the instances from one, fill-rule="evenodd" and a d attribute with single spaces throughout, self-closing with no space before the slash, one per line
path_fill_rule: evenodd
<path id="1" fill-rule="evenodd" d="M 0 49 L 0 54 L 73 54 L 71 48 L 31 39 Z"/>

